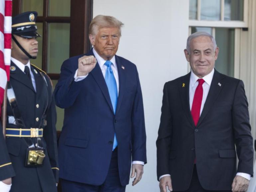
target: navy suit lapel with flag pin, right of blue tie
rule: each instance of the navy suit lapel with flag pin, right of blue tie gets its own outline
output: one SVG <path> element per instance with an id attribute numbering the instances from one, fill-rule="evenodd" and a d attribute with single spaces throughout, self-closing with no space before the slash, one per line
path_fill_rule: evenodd
<path id="1" fill-rule="evenodd" d="M 117 101 L 117 107 L 116 107 L 116 114 L 117 114 L 120 109 L 122 99 L 124 96 L 126 74 L 125 74 L 125 70 L 122 68 L 122 64 L 118 56 L 115 56 L 115 58 L 116 58 L 116 65 L 117 65 L 118 78 L 119 78 L 119 94 L 118 94 L 118 101 Z"/>

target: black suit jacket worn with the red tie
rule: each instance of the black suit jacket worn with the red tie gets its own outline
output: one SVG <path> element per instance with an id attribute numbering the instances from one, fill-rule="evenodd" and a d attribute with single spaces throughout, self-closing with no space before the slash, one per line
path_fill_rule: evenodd
<path id="1" fill-rule="evenodd" d="M 190 73 L 164 86 L 156 142 L 157 176 L 171 174 L 173 190 L 187 190 L 196 157 L 204 189 L 231 190 L 237 172 L 253 175 L 253 141 L 243 82 L 215 70 L 196 127 L 190 111 L 189 84 Z"/>

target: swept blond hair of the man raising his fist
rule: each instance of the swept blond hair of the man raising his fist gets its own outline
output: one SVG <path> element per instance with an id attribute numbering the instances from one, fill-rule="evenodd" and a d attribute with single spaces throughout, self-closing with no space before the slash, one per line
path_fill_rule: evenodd
<path id="1" fill-rule="evenodd" d="M 124 24 L 112 16 L 97 15 L 93 18 L 89 26 L 89 35 L 96 35 L 99 29 L 104 27 L 116 27 L 119 29 L 121 36 L 121 27 Z"/>

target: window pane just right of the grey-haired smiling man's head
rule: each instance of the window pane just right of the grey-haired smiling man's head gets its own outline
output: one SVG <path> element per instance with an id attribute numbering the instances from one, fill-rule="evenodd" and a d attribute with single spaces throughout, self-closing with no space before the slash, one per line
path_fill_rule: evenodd
<path id="1" fill-rule="evenodd" d="M 219 55 L 215 62 L 215 68 L 217 71 L 233 77 L 235 30 L 215 28 L 215 40 L 217 47 L 219 47 Z"/>

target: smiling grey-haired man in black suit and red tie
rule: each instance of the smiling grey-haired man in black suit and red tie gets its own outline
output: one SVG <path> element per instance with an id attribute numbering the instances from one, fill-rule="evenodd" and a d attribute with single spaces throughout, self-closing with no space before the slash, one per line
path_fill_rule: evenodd
<path id="1" fill-rule="evenodd" d="M 164 86 L 156 142 L 160 190 L 246 191 L 253 141 L 243 82 L 214 69 L 219 48 L 208 33 L 192 34 L 184 51 L 191 72 Z"/>

